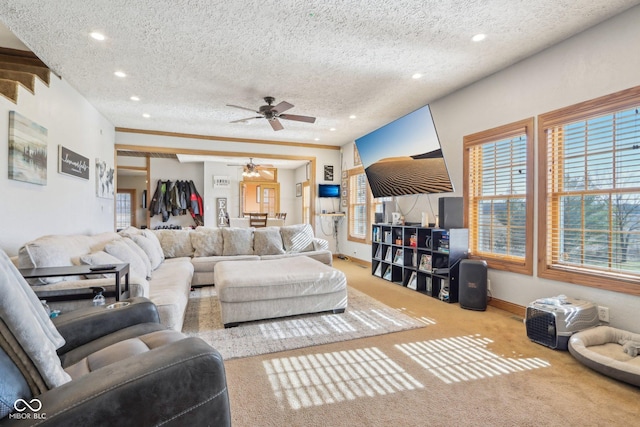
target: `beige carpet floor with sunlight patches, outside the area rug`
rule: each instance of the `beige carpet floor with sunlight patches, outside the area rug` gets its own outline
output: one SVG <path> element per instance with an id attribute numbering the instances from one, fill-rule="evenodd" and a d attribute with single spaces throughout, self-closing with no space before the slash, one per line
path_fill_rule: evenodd
<path id="1" fill-rule="evenodd" d="M 348 283 L 433 323 L 225 362 L 234 427 L 631 426 L 640 389 L 526 337 L 522 319 L 476 312 L 336 260 Z"/>

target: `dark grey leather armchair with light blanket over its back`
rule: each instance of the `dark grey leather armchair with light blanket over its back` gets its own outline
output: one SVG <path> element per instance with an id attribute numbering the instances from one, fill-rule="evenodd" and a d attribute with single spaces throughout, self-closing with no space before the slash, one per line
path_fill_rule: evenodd
<path id="1" fill-rule="evenodd" d="M 231 425 L 222 357 L 150 301 L 51 322 L 12 267 L 0 251 L 0 426 Z"/>

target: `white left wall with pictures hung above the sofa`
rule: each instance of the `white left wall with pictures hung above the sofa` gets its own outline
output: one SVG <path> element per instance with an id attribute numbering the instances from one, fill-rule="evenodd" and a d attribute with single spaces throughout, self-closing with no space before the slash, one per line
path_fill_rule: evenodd
<path id="1" fill-rule="evenodd" d="M 95 160 L 114 165 L 114 127 L 66 81 L 38 81 L 35 95 L 19 89 L 17 105 L 0 97 L 0 247 L 20 246 L 45 234 L 98 233 L 114 229 L 114 202 L 96 197 Z M 47 185 L 8 179 L 9 111 L 48 131 Z M 89 180 L 58 173 L 58 144 L 87 157 Z"/>

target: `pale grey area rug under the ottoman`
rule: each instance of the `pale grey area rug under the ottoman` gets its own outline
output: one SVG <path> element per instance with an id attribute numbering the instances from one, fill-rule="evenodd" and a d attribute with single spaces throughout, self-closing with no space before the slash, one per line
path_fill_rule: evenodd
<path id="1" fill-rule="evenodd" d="M 424 327 L 427 324 L 348 288 L 344 313 L 317 313 L 241 323 L 225 329 L 215 287 L 197 288 L 182 331 L 205 340 L 225 360 Z"/>

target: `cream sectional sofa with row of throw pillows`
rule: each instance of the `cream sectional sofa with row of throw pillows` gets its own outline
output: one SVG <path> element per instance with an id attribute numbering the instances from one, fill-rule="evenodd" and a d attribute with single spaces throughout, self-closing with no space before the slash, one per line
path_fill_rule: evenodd
<path id="1" fill-rule="evenodd" d="M 266 228 L 210 228 L 140 230 L 96 235 L 49 235 L 25 243 L 13 262 L 19 268 L 129 263 L 130 296 L 149 298 L 158 307 L 160 322 L 181 330 L 192 286 L 213 284 L 221 261 L 291 259 L 308 256 L 332 265 L 325 239 L 313 235 L 309 224 Z M 112 275 L 32 279 L 39 298 L 89 292 L 102 286 L 113 290 Z M 91 305 L 80 299 L 50 302 L 63 312 Z"/>

